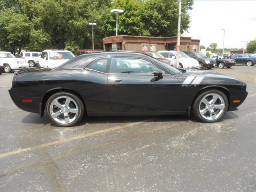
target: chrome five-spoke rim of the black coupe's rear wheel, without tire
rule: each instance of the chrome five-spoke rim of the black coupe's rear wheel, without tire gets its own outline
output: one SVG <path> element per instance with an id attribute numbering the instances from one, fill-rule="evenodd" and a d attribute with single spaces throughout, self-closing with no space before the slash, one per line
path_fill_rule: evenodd
<path id="1" fill-rule="evenodd" d="M 68 96 L 57 97 L 50 104 L 50 115 L 60 124 L 72 123 L 78 117 L 78 104 Z"/>

